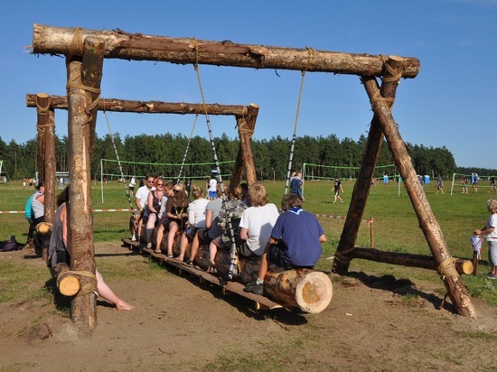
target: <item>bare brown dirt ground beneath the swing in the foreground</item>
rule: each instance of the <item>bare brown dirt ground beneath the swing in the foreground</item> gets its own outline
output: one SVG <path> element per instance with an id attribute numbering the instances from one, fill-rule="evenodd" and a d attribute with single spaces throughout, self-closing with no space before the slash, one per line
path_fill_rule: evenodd
<path id="1" fill-rule="evenodd" d="M 99 246 L 97 253 L 112 259 L 123 250 Z M 9 256 L 42 265 L 23 251 Z M 147 265 L 142 256 L 128 259 Z M 98 301 L 89 339 L 79 338 L 53 303 L 3 303 L 0 369 L 497 370 L 494 307 L 474 299 L 474 321 L 454 315 L 450 303 L 439 310 L 434 284 L 363 273 L 332 279 L 333 300 L 316 315 L 255 311 L 247 299 L 173 269 L 108 280 L 136 309 L 117 312 Z"/>

